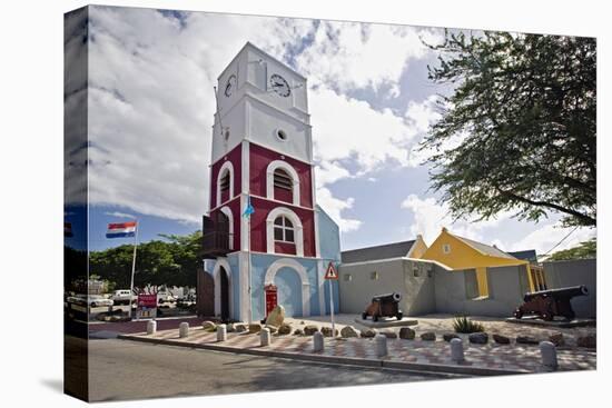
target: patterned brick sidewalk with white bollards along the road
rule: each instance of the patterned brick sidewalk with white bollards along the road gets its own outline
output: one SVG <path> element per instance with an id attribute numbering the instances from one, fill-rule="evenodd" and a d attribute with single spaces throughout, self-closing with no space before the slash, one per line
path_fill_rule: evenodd
<path id="1" fill-rule="evenodd" d="M 323 352 L 313 351 L 312 336 L 273 336 L 270 346 L 259 346 L 259 335 L 228 334 L 227 340 L 217 341 L 215 332 L 191 327 L 189 336 L 178 337 L 178 330 L 160 330 L 119 336 L 121 339 L 241 352 L 260 356 L 315 360 L 364 367 L 394 368 L 415 371 L 446 372 L 470 376 L 511 375 L 547 371 L 541 365 L 537 346 L 471 345 L 464 342 L 465 361 L 451 360 L 450 345 L 445 341 L 387 339 L 388 356 L 376 357 L 373 339 L 325 339 Z M 559 350 L 559 370 L 589 370 L 596 367 L 596 352 L 588 350 Z"/>

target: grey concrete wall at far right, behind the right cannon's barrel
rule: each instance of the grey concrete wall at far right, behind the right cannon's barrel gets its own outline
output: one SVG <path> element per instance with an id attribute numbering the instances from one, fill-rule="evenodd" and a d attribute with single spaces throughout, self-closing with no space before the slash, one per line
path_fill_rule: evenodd
<path id="1" fill-rule="evenodd" d="M 596 259 L 574 259 L 566 261 L 544 262 L 544 275 L 549 289 L 584 285 L 588 296 L 573 298 L 572 308 L 578 317 L 596 318 L 598 316 L 598 265 Z"/>

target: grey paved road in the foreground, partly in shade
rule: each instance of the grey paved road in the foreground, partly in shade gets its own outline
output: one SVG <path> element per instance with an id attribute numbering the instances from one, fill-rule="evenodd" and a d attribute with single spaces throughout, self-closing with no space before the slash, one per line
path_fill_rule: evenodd
<path id="1" fill-rule="evenodd" d="M 128 340 L 89 342 L 91 401 L 433 380 L 394 370 L 319 365 Z"/>

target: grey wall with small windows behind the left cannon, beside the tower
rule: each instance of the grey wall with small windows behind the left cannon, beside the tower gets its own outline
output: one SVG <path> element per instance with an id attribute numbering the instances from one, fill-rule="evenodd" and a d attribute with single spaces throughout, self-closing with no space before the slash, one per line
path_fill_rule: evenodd
<path id="1" fill-rule="evenodd" d="M 416 267 L 416 275 L 414 268 Z M 428 272 L 431 270 L 431 272 Z M 378 279 L 371 278 L 378 272 Z M 340 312 L 362 314 L 372 297 L 381 293 L 402 295 L 401 309 L 406 316 L 435 312 L 434 271 L 428 262 L 392 259 L 339 268 Z M 345 276 L 351 275 L 351 280 Z"/>

